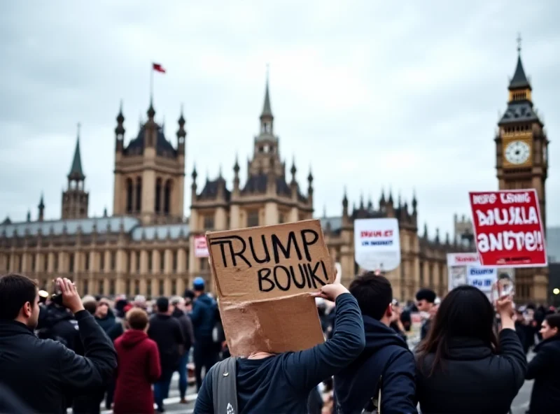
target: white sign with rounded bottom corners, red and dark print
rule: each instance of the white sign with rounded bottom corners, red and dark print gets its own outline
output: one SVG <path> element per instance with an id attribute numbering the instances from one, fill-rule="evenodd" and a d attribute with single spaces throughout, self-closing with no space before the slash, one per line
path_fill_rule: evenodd
<path id="1" fill-rule="evenodd" d="M 354 258 L 362 269 L 368 271 L 397 269 L 400 264 L 398 220 L 354 220 Z"/>

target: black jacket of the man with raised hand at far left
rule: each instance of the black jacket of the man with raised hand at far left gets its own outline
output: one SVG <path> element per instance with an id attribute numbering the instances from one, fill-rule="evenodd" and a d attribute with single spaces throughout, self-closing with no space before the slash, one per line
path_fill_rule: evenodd
<path id="1" fill-rule="evenodd" d="M 37 413 L 66 413 L 66 395 L 103 385 L 113 375 L 113 343 L 87 310 L 76 313 L 85 357 L 37 338 L 24 324 L 0 321 L 0 383 Z"/>

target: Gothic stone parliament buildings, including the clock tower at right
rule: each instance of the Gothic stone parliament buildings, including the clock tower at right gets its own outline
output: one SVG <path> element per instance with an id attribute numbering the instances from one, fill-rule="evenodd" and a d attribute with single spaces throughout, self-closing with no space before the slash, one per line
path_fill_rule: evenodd
<path id="1" fill-rule="evenodd" d="M 498 187 L 536 188 L 542 217 L 546 217 L 549 141 L 533 110 L 531 85 L 521 57 L 508 89 L 509 101 L 495 136 Z M 195 255 L 195 236 L 209 230 L 314 217 L 314 178 L 309 172 L 307 182 L 298 183 L 297 166 L 286 164 L 280 155 L 268 82 L 260 129 L 253 139 L 253 157 L 244 166 L 245 182 L 239 178 L 241 166 L 237 161 L 232 166 L 232 183 L 221 174 L 214 180 L 200 180 L 193 168 L 188 217 L 183 206 L 188 168 L 186 120 L 181 110 L 172 142 L 154 116 L 151 102 L 146 122 L 129 140 L 125 140 L 122 106 L 116 117 L 110 217 L 106 213 L 103 217 L 88 215 L 90 194 L 85 190 L 78 132 L 67 187 L 62 192 L 60 219 L 44 220 L 47 206 L 41 196 L 36 220 L 31 220 L 28 213 L 25 222 L 6 219 L 0 224 L 0 273 L 24 273 L 48 292 L 57 276 L 73 280 L 80 294 L 144 294 L 148 298 L 182 294 L 197 276 L 205 278 L 212 289 L 207 259 Z M 512 156 L 519 145 L 529 148 L 528 157 Z M 447 292 L 447 253 L 475 251 L 472 224 L 464 217 L 455 218 L 456 234 L 452 238 L 439 232 L 435 238 L 428 238 L 426 225 L 419 229 L 421 203 L 414 196 L 404 201 L 391 193 L 381 194 L 374 206 L 363 199 L 353 203 L 344 194 L 340 203 L 340 215 L 319 218 L 332 257 L 342 267 L 344 284 L 358 272 L 353 252 L 353 220 L 358 218 L 398 219 L 402 261 L 387 277 L 395 298 L 400 300 L 413 299 L 420 287 L 431 287 L 443 296 Z M 519 301 L 545 301 L 547 269 L 516 272 L 516 285 Z"/>

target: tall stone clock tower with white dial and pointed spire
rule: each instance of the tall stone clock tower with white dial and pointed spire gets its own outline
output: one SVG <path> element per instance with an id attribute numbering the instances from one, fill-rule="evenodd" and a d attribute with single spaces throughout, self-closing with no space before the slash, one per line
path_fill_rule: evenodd
<path id="1" fill-rule="evenodd" d="M 521 63 L 518 38 L 517 66 L 510 80 L 509 101 L 496 135 L 496 176 L 500 190 L 535 188 L 546 229 L 545 181 L 548 172 L 548 139 L 531 97 Z M 515 296 L 519 301 L 547 301 L 548 269 L 516 269 Z"/>

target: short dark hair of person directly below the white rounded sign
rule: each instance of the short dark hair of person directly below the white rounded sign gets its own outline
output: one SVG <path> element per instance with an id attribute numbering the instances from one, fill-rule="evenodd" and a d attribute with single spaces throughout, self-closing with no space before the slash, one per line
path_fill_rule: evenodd
<path id="1" fill-rule="evenodd" d="M 349 291 L 358 301 L 362 315 L 375 320 L 383 317 L 393 300 L 391 283 L 385 276 L 376 276 L 373 272 L 364 273 L 352 280 Z"/>

